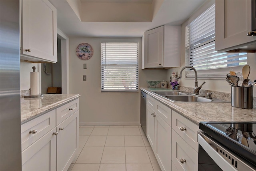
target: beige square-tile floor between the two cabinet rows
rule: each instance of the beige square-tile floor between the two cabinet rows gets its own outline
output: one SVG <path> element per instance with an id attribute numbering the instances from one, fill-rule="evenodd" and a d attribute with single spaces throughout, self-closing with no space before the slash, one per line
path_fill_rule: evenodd
<path id="1" fill-rule="evenodd" d="M 80 126 L 68 171 L 161 171 L 140 126 Z"/>

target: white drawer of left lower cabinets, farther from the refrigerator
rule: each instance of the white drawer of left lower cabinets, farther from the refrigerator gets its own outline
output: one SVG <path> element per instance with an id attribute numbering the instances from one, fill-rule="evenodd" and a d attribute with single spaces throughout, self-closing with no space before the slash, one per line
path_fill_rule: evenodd
<path id="1" fill-rule="evenodd" d="M 70 117 L 73 113 L 79 109 L 79 99 L 75 99 L 65 105 L 62 105 L 56 109 L 56 125 Z"/>

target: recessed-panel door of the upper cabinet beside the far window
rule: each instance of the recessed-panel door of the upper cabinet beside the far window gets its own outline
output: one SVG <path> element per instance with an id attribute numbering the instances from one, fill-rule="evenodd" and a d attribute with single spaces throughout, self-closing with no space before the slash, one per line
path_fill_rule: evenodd
<path id="1" fill-rule="evenodd" d="M 164 26 L 145 32 L 144 38 L 144 67 L 162 67 Z"/>

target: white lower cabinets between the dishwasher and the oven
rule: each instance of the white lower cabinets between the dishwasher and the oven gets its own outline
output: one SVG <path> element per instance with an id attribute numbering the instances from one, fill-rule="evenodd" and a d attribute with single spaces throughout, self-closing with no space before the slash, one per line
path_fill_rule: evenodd
<path id="1" fill-rule="evenodd" d="M 198 129 L 190 119 L 147 95 L 146 134 L 162 171 L 198 170 Z"/>

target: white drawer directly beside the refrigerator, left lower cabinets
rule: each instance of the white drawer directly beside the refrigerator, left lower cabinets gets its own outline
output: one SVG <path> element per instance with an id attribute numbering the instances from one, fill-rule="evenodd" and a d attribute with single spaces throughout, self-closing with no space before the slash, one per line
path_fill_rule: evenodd
<path id="1" fill-rule="evenodd" d="M 56 124 L 56 110 L 49 111 L 35 119 L 21 125 L 21 149 L 22 151 L 37 141 L 40 137 L 53 129 Z M 36 131 L 36 133 L 30 132 Z"/>

